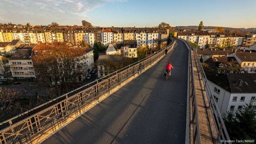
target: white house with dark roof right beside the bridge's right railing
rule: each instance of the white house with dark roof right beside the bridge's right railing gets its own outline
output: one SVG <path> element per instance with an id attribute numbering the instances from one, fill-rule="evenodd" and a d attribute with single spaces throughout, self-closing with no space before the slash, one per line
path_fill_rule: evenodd
<path id="1" fill-rule="evenodd" d="M 256 109 L 256 73 L 223 73 L 207 79 L 222 114 L 239 110 L 250 101 Z"/>

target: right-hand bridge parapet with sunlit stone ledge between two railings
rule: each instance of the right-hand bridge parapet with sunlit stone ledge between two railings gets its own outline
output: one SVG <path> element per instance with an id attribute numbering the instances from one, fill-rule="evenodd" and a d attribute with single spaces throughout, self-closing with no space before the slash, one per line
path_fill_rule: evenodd
<path id="1" fill-rule="evenodd" d="M 222 115 L 213 98 L 196 47 L 185 42 L 189 49 L 190 76 L 190 143 L 222 143 L 229 141 Z M 230 142 L 228 142 L 230 143 Z"/>

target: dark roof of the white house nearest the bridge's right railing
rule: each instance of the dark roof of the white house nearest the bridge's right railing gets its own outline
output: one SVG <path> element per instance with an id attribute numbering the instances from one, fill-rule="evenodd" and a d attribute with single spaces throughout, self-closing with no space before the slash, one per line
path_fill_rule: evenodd
<path id="1" fill-rule="evenodd" d="M 231 93 L 256 93 L 256 73 L 225 73 L 207 77 Z M 242 86 L 239 85 L 242 80 Z"/>

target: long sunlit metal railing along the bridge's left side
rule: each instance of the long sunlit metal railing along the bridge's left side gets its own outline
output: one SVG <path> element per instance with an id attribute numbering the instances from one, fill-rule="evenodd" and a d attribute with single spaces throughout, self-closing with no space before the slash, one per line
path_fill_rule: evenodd
<path id="1" fill-rule="evenodd" d="M 173 48 L 174 44 L 175 40 L 166 46 L 168 52 L 170 52 L 170 49 Z M 92 102 L 98 101 L 101 96 L 109 95 L 111 92 L 115 91 L 117 87 L 121 87 L 128 83 L 132 76 L 139 75 L 141 72 L 144 72 L 146 69 L 151 67 L 152 64 L 161 60 L 165 55 L 164 50 L 165 49 L 161 49 L 143 60 L 128 65 L 116 72 L 110 73 L 108 76 L 102 77 L 101 80 L 94 81 L 96 84 L 92 86 L 90 86 L 90 84 L 94 82 L 2 122 L 1 125 L 7 126 L 0 131 L 0 144 L 28 143 L 31 139 L 42 134 L 42 132 L 56 125 L 65 124 L 71 115 L 82 111 L 82 109 L 86 109 Z M 103 80 L 103 78 L 106 79 Z M 82 88 L 86 86 L 89 87 L 82 90 Z M 78 90 L 81 91 L 77 92 Z M 77 93 L 74 94 L 74 92 Z M 58 102 L 57 100 L 61 101 Z M 52 102 L 56 103 L 52 104 Z M 40 110 L 40 108 L 44 109 Z M 31 115 L 31 111 L 38 112 Z M 21 116 L 26 117 L 14 123 L 14 121 L 19 120 Z"/>

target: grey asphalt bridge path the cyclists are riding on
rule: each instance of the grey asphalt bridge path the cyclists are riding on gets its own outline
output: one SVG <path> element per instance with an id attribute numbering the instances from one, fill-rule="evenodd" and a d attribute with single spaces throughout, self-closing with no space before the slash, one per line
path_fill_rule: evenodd
<path id="1" fill-rule="evenodd" d="M 171 61 L 172 76 L 163 73 Z M 181 41 L 157 64 L 46 139 L 44 144 L 184 144 L 188 50 Z"/>

